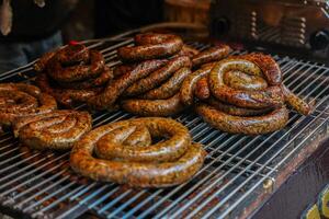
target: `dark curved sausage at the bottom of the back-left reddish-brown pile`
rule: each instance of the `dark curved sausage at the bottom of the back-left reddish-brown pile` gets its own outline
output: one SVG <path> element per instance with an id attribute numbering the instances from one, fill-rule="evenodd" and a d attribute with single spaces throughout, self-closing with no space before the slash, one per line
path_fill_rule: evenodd
<path id="1" fill-rule="evenodd" d="M 72 107 L 75 102 L 86 102 L 102 91 L 101 88 L 86 90 L 56 88 L 50 84 L 49 79 L 45 73 L 37 76 L 36 83 L 45 93 L 54 96 L 58 103 L 66 107 Z"/>

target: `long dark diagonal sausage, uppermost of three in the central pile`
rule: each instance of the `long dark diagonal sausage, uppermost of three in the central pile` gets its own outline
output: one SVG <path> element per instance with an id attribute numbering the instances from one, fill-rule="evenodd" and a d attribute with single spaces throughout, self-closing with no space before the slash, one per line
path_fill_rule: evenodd
<path id="1" fill-rule="evenodd" d="M 125 90 L 134 82 L 145 78 L 166 64 L 166 60 L 147 60 L 137 65 L 133 70 L 127 71 L 117 79 L 112 80 L 105 90 L 90 99 L 88 104 L 98 110 L 113 110 L 115 102 Z"/>

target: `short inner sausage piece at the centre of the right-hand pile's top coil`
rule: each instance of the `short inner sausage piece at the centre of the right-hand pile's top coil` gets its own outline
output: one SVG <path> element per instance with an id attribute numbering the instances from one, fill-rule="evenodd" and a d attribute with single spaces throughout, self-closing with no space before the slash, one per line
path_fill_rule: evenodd
<path id="1" fill-rule="evenodd" d="M 250 76 L 241 71 L 227 71 L 223 76 L 223 81 L 226 85 L 238 90 L 264 90 L 268 88 L 268 82 L 259 76 Z"/>

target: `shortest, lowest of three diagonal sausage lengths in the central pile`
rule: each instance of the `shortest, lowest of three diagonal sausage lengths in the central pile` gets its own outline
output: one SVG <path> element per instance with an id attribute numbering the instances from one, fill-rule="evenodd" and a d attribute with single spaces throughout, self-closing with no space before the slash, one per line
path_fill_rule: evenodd
<path id="1" fill-rule="evenodd" d="M 148 91 L 143 94 L 141 99 L 156 100 L 156 99 L 169 99 L 179 92 L 184 79 L 191 73 L 189 68 L 181 68 L 173 76 L 159 88 Z"/>

